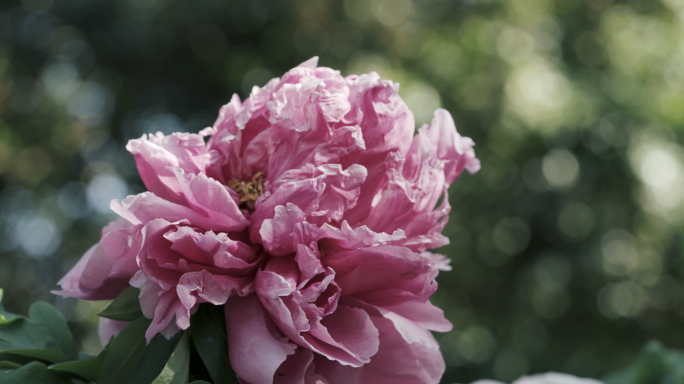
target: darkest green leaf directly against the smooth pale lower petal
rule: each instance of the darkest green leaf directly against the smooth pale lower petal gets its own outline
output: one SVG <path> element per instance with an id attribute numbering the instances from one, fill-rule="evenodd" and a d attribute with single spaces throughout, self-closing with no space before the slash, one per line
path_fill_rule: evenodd
<path id="1" fill-rule="evenodd" d="M 223 306 L 201 304 L 190 317 L 192 340 L 215 383 L 237 384 L 228 358 L 228 337 Z"/>

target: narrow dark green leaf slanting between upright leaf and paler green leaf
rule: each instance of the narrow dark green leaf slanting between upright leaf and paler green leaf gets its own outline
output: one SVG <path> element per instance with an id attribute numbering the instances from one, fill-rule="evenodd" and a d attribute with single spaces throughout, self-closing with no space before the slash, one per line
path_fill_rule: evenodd
<path id="1" fill-rule="evenodd" d="M 138 361 L 138 365 L 131 372 L 127 384 L 150 384 L 164 369 L 181 337 L 182 332 L 170 340 L 166 340 L 162 335 L 155 336 L 145 348 L 145 352 Z"/>

